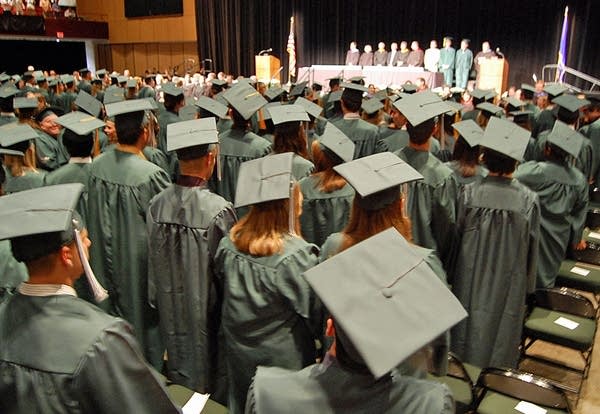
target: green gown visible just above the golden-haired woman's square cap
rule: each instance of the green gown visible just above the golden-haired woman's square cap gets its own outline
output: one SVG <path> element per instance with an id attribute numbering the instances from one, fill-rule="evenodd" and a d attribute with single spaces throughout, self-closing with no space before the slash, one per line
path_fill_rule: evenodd
<path id="1" fill-rule="evenodd" d="M 238 171 L 243 162 L 264 157 L 271 152 L 271 144 L 254 132 L 231 128 L 219 136 L 219 161 L 222 177 L 210 179 L 211 189 L 227 201 L 235 201 Z M 239 214 L 239 217 L 242 215 Z"/>

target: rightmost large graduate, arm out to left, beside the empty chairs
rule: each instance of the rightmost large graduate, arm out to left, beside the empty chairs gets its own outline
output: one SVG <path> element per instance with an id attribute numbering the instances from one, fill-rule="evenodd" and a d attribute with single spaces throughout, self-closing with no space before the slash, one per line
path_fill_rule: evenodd
<path id="1" fill-rule="evenodd" d="M 588 184 L 571 165 L 586 138 L 567 124 L 556 121 L 547 136 L 546 161 L 527 162 L 515 178 L 540 198 L 540 260 L 537 287 L 554 287 L 561 262 L 569 247 L 584 249 L 583 228 L 588 209 Z"/>

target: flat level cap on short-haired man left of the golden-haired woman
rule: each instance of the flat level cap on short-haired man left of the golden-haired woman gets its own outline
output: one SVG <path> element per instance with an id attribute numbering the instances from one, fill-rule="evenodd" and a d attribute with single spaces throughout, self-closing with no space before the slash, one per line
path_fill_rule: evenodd
<path id="1" fill-rule="evenodd" d="M 176 151 L 219 142 L 214 118 L 193 119 L 167 125 L 167 151 Z"/>

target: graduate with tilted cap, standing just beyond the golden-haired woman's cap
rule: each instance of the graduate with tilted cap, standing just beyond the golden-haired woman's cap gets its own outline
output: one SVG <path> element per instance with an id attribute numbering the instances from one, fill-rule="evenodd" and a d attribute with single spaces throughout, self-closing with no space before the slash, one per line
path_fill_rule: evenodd
<path id="1" fill-rule="evenodd" d="M 271 144 L 250 131 L 249 119 L 266 105 L 267 101 L 245 82 L 228 89 L 223 97 L 229 102 L 229 115 L 233 120 L 231 129 L 219 136 L 219 157 L 222 171 L 221 181 L 210 180 L 211 189 L 227 201 L 234 201 L 238 172 L 243 162 L 264 157 L 271 152 Z M 247 209 L 238 210 L 242 217 Z"/>

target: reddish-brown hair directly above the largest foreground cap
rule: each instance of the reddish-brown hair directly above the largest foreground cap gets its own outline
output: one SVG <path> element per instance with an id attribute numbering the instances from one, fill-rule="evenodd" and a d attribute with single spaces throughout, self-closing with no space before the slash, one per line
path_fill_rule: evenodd
<path id="1" fill-rule="evenodd" d="M 395 227 L 412 242 L 410 219 L 402 213 L 402 198 L 379 210 L 365 210 L 358 202 L 359 197 L 358 194 L 354 196 L 350 220 L 342 232 L 340 252 L 390 227 Z"/>

